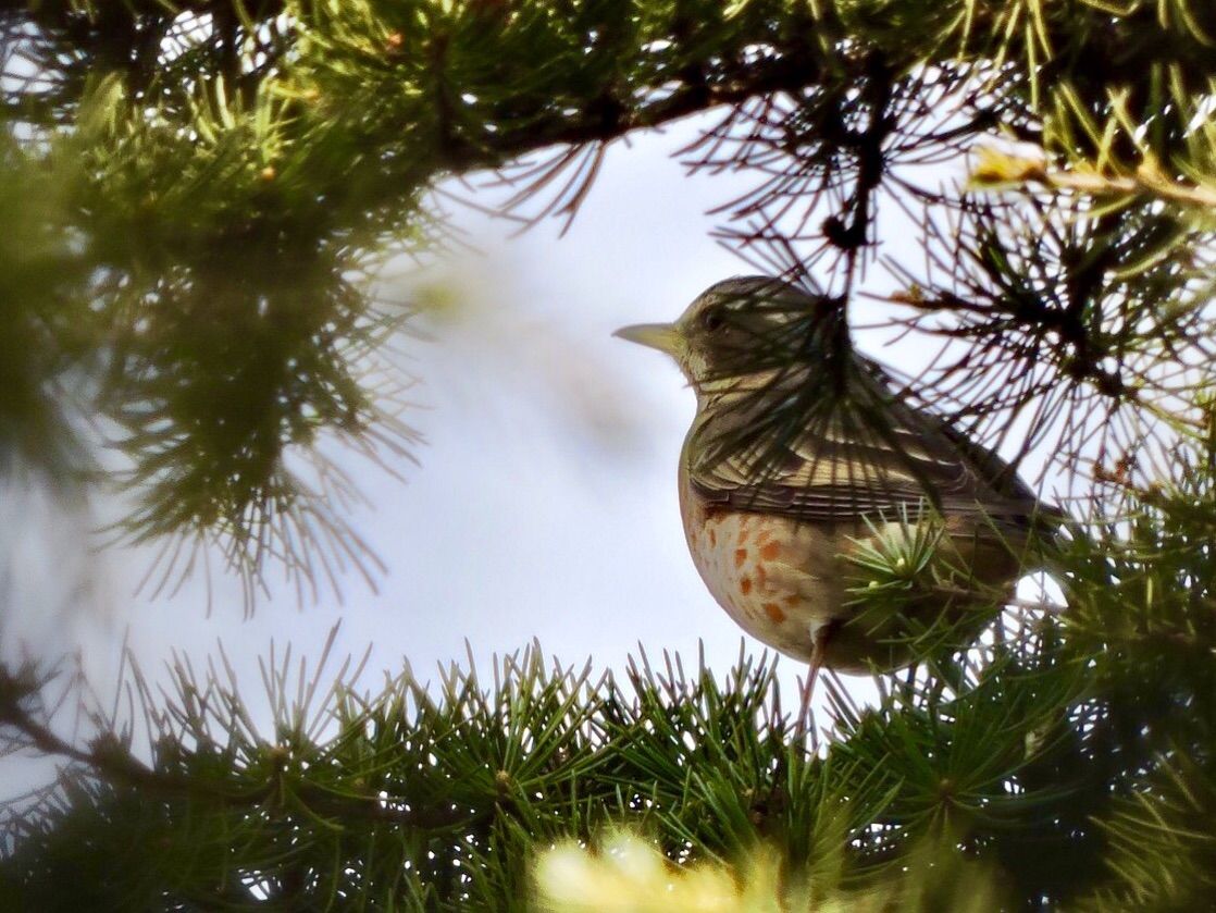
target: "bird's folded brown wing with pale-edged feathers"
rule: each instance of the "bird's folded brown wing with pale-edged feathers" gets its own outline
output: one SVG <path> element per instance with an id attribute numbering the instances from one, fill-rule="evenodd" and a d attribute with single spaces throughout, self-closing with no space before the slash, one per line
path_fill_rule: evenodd
<path id="1" fill-rule="evenodd" d="M 694 429 L 702 446 L 689 448 L 704 455 L 687 465 L 694 489 L 711 504 L 806 522 L 917 516 L 930 504 L 946 516 L 1014 522 L 1036 510 L 1034 493 L 1003 460 L 939 416 L 902 403 L 872 375 L 855 393 L 796 433 L 779 418 L 766 427 L 764 416 L 741 422 L 724 414 L 715 427 L 708 416 Z M 759 425 L 754 439 L 739 433 L 741 424 Z M 724 443 L 705 446 L 715 436 Z"/>

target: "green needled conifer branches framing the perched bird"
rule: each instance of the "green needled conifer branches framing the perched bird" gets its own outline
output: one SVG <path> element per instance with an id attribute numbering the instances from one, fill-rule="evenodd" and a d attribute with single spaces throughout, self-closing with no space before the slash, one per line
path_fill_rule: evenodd
<path id="1" fill-rule="evenodd" d="M 235 683 L 133 673 L 150 755 L 105 713 L 66 739 L 54 676 L 6 668 L 5 747 L 63 762 L 5 812 L 6 908 L 1209 907 L 1209 5 L 60 0 L 4 4 L 0 35 L 0 465 L 120 484 L 168 578 L 219 549 L 250 594 L 270 565 L 310 588 L 361 554 L 317 443 L 416 444 L 371 279 L 441 236 L 435 181 L 500 169 L 511 209 L 573 218 L 608 146 L 703 112 L 683 159 L 755 180 L 724 241 L 843 325 L 884 290 L 942 346 L 903 394 L 1071 495 L 1066 607 L 918 640 L 876 706 L 829 683 L 823 745 L 767 657 L 722 684 L 524 651 L 438 696 L 344 671 L 299 699 L 280 665 L 272 738 Z M 928 186 L 942 161 L 969 183 Z M 917 262 L 884 257 L 895 209 Z M 98 435 L 125 460 L 101 481 Z M 906 559 L 871 556 L 858 601 L 936 586 Z"/>

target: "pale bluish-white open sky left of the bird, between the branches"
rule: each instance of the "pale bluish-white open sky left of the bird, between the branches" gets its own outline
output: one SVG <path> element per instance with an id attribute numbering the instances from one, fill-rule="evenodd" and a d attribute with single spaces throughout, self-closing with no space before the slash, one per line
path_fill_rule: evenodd
<path id="1" fill-rule="evenodd" d="M 412 398 L 426 404 L 407 416 L 427 436 L 421 466 L 401 466 L 401 484 L 350 464 L 375 505 L 354 523 L 388 567 L 378 593 L 351 576 L 344 605 L 302 609 L 285 590 L 250 621 L 231 581 L 215 581 L 210 617 L 202 581 L 171 599 L 134 598 L 147 553 L 91 553 L 86 517 L 10 488 L 0 499 L 15 594 L 0 631 L 6 655 L 18 639 L 35 655 L 80 648 L 107 694 L 124 638 L 150 672 L 171 650 L 204 661 L 221 640 L 252 696 L 271 639 L 315 655 L 340 620 L 339 652 L 373 646 L 372 687 L 402 659 L 426 677 L 463 663 L 466 640 L 485 665 L 533 638 L 567 665 L 591 656 L 618 670 L 638 644 L 696 666 L 700 640 L 725 674 L 743 635 L 697 577 L 676 505 L 692 393 L 660 354 L 610 337 L 754 271 L 709 237 L 715 220 L 704 215 L 747 185 L 689 179 L 668 158 L 692 130 L 686 122 L 618 144 L 561 240 L 557 222 L 508 239 L 513 226 L 460 213 L 485 253 L 462 254 L 438 278 L 467 291 L 469 319 L 433 321 L 433 341 L 402 342 L 422 380 Z M 959 162 L 946 177 L 961 174 Z M 803 666 L 782 666 L 793 685 Z M 871 693 L 851 680 L 858 696 Z"/>

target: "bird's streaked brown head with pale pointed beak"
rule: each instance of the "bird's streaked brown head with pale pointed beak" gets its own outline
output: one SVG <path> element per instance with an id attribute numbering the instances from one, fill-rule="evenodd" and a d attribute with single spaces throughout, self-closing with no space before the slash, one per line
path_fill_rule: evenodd
<path id="1" fill-rule="evenodd" d="M 614 335 L 666 352 L 698 393 L 814 360 L 826 298 L 769 276 L 715 282 L 671 324 L 636 324 Z M 799 327 L 796 324 L 803 324 Z"/>

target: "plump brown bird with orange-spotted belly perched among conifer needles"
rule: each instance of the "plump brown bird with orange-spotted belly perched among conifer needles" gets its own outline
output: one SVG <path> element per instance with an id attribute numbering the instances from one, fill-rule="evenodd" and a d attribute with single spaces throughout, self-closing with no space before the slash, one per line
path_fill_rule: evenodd
<path id="1" fill-rule="evenodd" d="M 899 668 L 914 659 L 910 617 L 974 634 L 1012 596 L 1048 511 L 996 454 L 897 396 L 852 349 L 839 299 L 728 279 L 674 324 L 615 335 L 675 358 L 697 393 L 679 476 L 697 570 L 812 680 Z M 858 559 L 917 543 L 952 568 L 945 584 L 900 618 L 863 611 Z"/>

